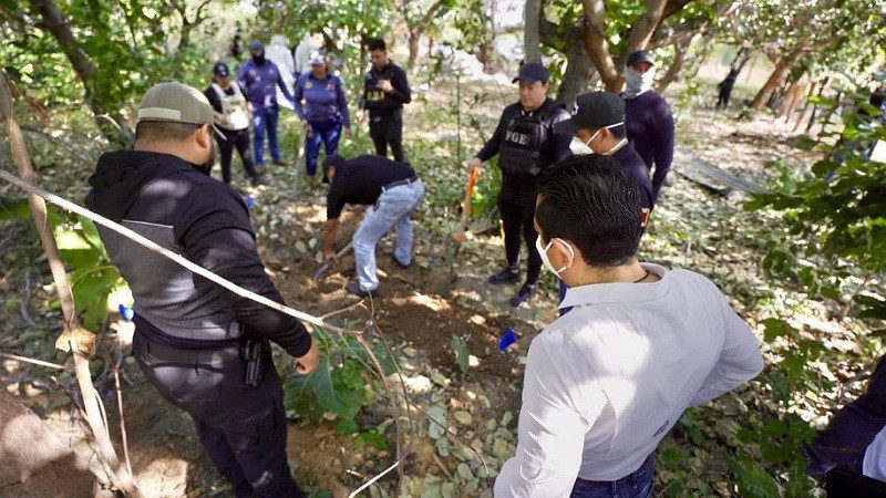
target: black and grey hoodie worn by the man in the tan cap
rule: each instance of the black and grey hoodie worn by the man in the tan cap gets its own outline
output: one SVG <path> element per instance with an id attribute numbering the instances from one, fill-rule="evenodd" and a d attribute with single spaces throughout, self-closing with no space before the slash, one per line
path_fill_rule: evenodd
<path id="1" fill-rule="evenodd" d="M 230 188 L 168 154 L 105 153 L 86 207 L 231 282 L 282 303 L 265 274 L 255 229 Z M 130 239 L 99 228 L 111 262 L 130 283 L 136 326 L 181 347 L 219 347 L 241 330 L 302 356 L 310 334 L 297 319 L 227 291 Z M 243 328 L 243 329 L 241 329 Z"/>

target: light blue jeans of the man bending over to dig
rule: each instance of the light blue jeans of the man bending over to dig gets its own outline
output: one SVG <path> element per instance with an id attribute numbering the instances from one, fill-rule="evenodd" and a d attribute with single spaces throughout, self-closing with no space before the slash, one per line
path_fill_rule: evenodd
<path id="1" fill-rule="evenodd" d="M 363 220 L 353 234 L 353 255 L 357 260 L 357 280 L 360 289 L 379 287 L 375 274 L 375 243 L 396 225 L 394 258 L 406 266 L 412 261 L 412 221 L 410 217 L 424 197 L 424 185 L 415 180 L 391 189 L 382 188 L 379 200 L 367 209 Z"/>

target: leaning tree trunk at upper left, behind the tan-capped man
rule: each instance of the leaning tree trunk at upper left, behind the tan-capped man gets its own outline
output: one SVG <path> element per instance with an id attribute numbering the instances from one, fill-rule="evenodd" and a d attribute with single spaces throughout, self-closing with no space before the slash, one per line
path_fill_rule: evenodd
<path id="1" fill-rule="evenodd" d="M 29 1 L 40 11 L 42 19 L 38 25 L 52 34 L 83 83 L 86 103 L 95 115 L 102 135 L 112 144 L 128 147 L 134 142 L 132 128 L 119 112 L 111 111 L 114 105 L 107 102 L 101 86 L 95 83 L 95 64 L 80 50 L 71 27 L 64 21 L 59 8 L 52 0 Z"/>

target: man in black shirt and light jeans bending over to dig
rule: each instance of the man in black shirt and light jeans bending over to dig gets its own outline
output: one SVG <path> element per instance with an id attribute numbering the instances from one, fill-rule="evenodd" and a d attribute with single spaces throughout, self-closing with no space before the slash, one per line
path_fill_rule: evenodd
<path id="1" fill-rule="evenodd" d="M 381 156 L 357 156 L 346 160 L 339 155 L 323 159 L 323 175 L 329 180 L 323 253 L 327 261 L 338 261 L 336 234 L 346 204 L 369 205 L 353 234 L 357 282 L 344 289 L 365 298 L 379 294 L 375 245 L 396 226 L 396 248 L 391 255 L 402 268 L 412 262 L 412 214 L 424 197 L 424 184 L 408 163 Z"/>

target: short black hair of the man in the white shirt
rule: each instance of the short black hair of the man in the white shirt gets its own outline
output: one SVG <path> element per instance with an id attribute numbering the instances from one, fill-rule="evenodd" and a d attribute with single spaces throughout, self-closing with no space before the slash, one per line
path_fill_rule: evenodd
<path id="1" fill-rule="evenodd" d="M 535 221 L 544 240 L 567 239 L 585 262 L 600 268 L 637 255 L 643 231 L 637 183 L 611 157 L 567 157 L 542 170 L 537 191 Z"/>

